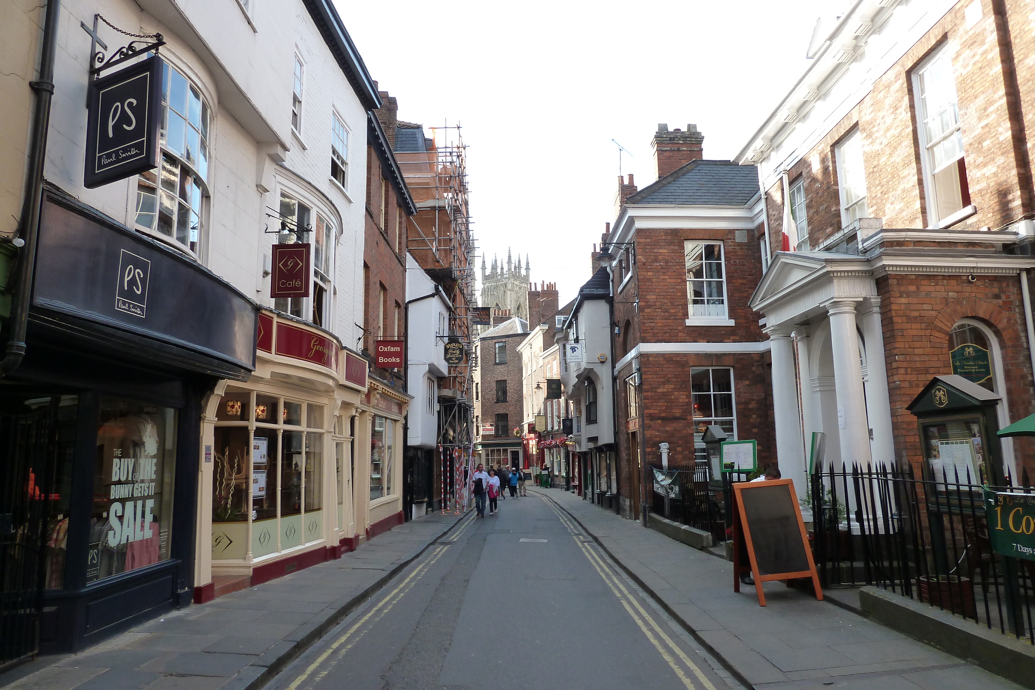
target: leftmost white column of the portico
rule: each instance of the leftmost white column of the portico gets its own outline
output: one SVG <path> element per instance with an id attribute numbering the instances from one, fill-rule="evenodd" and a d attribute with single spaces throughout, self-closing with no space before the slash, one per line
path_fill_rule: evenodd
<path id="1" fill-rule="evenodd" d="M 805 496 L 805 457 L 801 443 L 801 417 L 798 413 L 798 383 L 794 370 L 794 343 L 791 331 L 772 327 L 769 335 L 773 368 L 773 421 L 776 424 L 776 458 L 785 479 L 794 480 L 798 497 Z"/>

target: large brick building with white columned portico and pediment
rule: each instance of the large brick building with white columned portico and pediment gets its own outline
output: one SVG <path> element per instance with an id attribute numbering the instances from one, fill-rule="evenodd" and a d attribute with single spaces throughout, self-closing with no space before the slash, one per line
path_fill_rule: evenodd
<path id="1" fill-rule="evenodd" d="M 785 476 L 814 431 L 828 460 L 924 464 L 906 406 L 937 374 L 1001 395 L 1000 426 L 1035 409 L 1030 8 L 884 5 L 827 28 L 737 156 L 765 193 L 771 265 L 750 305 L 770 337 Z M 1004 467 L 975 473 L 1032 471 L 1030 440 L 1002 445 Z"/>

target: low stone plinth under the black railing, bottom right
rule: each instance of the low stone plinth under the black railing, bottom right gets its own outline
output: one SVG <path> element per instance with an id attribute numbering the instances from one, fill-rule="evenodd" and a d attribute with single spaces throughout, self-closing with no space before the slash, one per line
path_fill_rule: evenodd
<path id="1" fill-rule="evenodd" d="M 1035 644 L 879 587 L 859 590 L 863 614 L 913 639 L 1035 689 Z"/>

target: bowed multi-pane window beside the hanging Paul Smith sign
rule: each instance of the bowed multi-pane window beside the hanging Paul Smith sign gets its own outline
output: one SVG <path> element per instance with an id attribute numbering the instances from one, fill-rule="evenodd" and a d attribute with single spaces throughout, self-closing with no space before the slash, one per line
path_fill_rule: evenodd
<path id="1" fill-rule="evenodd" d="M 176 67 L 161 79 L 161 159 L 137 185 L 137 227 L 198 252 L 208 197 L 211 110 L 201 90 Z"/>

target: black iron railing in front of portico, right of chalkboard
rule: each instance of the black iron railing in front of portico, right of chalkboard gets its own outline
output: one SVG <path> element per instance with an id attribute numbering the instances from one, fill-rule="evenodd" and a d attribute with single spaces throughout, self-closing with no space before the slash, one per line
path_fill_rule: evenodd
<path id="1" fill-rule="evenodd" d="M 820 580 L 880 586 L 1035 644 L 1035 562 L 992 550 L 983 487 L 965 474 L 912 467 L 814 474 L 803 510 Z M 987 488 L 1031 492 L 1027 474 L 1021 479 Z"/>

